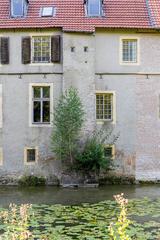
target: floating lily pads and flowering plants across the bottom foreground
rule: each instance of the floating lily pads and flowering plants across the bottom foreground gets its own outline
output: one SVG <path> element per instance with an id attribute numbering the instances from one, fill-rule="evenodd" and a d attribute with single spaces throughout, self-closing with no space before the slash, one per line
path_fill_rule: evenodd
<path id="1" fill-rule="evenodd" d="M 118 200 L 119 201 L 119 200 Z M 120 198 L 121 201 L 121 198 Z M 121 204 L 127 212 L 122 211 Z M 103 201 L 81 205 L 10 205 L 0 208 L 1 240 L 160 239 L 160 199 Z M 127 222 L 126 219 L 131 222 Z M 117 219 L 120 219 L 118 224 Z M 128 225 L 129 224 L 129 225 Z M 113 235 L 113 234 L 112 234 Z"/>

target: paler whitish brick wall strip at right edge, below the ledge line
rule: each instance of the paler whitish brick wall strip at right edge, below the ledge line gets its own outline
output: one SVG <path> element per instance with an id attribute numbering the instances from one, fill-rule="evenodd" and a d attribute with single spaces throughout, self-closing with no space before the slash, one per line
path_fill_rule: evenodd
<path id="1" fill-rule="evenodd" d="M 137 78 L 136 179 L 160 180 L 160 76 Z"/>

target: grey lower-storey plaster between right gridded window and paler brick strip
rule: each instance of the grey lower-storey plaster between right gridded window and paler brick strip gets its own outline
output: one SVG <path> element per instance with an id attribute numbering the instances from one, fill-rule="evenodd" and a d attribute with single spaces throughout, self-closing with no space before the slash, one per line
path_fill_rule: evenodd
<path id="1" fill-rule="evenodd" d="M 96 78 L 96 90 L 115 91 L 116 123 L 110 124 L 119 135 L 113 160 L 119 174 L 135 174 L 136 157 L 136 77 L 103 76 Z M 111 136 L 111 139 L 113 137 Z"/>

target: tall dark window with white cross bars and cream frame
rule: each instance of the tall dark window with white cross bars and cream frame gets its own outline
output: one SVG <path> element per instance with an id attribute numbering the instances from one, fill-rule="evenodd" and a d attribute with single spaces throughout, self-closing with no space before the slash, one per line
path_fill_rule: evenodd
<path id="1" fill-rule="evenodd" d="M 53 110 L 53 84 L 30 84 L 30 126 L 50 126 Z"/>

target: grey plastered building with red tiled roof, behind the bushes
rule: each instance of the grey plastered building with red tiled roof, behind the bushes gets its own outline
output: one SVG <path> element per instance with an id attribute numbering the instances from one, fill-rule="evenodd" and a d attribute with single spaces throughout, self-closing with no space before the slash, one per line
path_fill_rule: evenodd
<path id="1" fill-rule="evenodd" d="M 110 146 L 116 174 L 160 180 L 158 1 L 2 2 L 0 176 L 60 176 L 52 116 L 74 86 L 84 131 L 107 124 L 120 133 Z M 21 11 L 16 4 L 24 4 Z"/>

